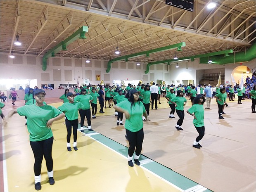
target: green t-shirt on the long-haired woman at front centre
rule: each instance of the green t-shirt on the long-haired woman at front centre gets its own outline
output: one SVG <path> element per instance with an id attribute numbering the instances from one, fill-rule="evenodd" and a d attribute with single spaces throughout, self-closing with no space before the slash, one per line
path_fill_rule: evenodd
<path id="1" fill-rule="evenodd" d="M 135 105 L 131 109 L 131 103 L 128 100 L 124 100 L 116 106 L 128 111 L 130 119 L 126 119 L 124 127 L 131 132 L 137 132 L 143 128 L 142 114 L 146 112 L 145 107 L 141 101 L 135 102 Z"/>

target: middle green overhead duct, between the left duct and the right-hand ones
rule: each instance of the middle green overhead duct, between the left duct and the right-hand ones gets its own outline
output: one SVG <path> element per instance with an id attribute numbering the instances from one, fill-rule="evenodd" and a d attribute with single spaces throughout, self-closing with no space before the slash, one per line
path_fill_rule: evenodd
<path id="1" fill-rule="evenodd" d="M 131 55 L 116 57 L 114 59 L 109 60 L 109 62 L 107 63 L 106 72 L 109 73 L 109 71 L 111 69 L 111 64 L 113 62 L 116 62 L 116 61 L 120 61 L 120 60 L 125 59 L 125 61 L 127 62 L 129 58 L 140 57 L 142 55 L 146 55 L 146 57 L 149 57 L 150 53 L 157 53 L 157 52 L 167 51 L 167 50 L 171 50 L 171 49 L 176 48 L 176 47 L 178 47 L 178 50 L 181 51 L 182 50 L 181 47 L 185 47 L 185 46 L 186 46 L 186 43 L 181 42 L 181 43 L 177 43 L 177 44 L 174 44 L 174 45 L 168 45 L 166 47 L 160 47 L 160 48 L 156 48 L 156 49 L 153 49 L 153 50 L 147 50 L 147 51 L 142 51 L 142 52 L 138 52 L 138 53 L 133 53 Z"/>

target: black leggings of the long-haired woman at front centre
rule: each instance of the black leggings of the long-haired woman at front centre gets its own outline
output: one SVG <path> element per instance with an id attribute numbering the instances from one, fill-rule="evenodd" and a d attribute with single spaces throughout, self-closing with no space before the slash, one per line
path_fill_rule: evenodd
<path id="1" fill-rule="evenodd" d="M 140 155 L 140 152 L 142 150 L 142 143 L 144 139 L 143 128 L 141 128 L 141 130 L 137 132 L 131 132 L 130 130 L 126 129 L 126 135 L 129 138 L 128 155 L 133 156 L 134 150 L 137 156 Z"/>

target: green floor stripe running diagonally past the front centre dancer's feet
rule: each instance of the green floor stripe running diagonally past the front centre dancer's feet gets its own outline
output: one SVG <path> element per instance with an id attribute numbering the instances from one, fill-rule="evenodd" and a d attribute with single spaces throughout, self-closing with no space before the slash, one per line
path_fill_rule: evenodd
<path id="1" fill-rule="evenodd" d="M 85 133 L 94 133 L 94 132 L 85 130 Z M 97 135 L 88 135 L 88 136 L 101 142 L 102 144 L 113 149 L 119 154 L 122 154 L 123 156 L 127 156 L 128 147 L 121 145 L 120 143 L 110 139 L 109 137 L 106 137 L 100 133 Z M 149 159 L 149 158 L 141 154 L 140 161 L 145 159 Z M 199 185 L 198 183 L 190 180 L 189 178 L 186 178 L 183 175 L 180 175 L 179 173 L 176 173 L 175 171 L 171 170 L 171 168 L 168 168 L 162 164 L 159 164 L 156 161 L 143 164 L 142 166 L 147 168 L 149 171 L 155 173 L 156 175 L 159 175 L 161 178 L 164 178 L 168 182 L 173 183 L 177 187 L 180 187 L 180 189 L 187 190 L 187 189 L 190 189 L 191 187 Z M 206 189 L 204 190 L 204 192 L 212 192 L 212 191 L 209 189 Z"/>

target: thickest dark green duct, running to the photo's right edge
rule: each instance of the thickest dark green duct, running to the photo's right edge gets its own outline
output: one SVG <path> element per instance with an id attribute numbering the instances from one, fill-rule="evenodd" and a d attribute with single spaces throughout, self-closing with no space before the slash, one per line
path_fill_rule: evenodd
<path id="1" fill-rule="evenodd" d="M 229 55 L 229 57 L 223 57 L 223 55 L 216 55 L 211 57 L 212 64 L 228 64 L 228 63 L 236 63 L 236 62 L 249 62 L 252 59 L 256 58 L 256 43 L 254 43 L 250 49 L 245 52 L 236 52 Z M 201 57 L 200 63 L 208 63 L 207 57 Z"/>

